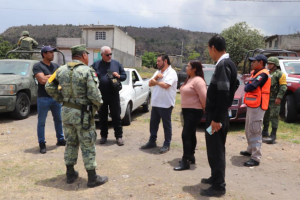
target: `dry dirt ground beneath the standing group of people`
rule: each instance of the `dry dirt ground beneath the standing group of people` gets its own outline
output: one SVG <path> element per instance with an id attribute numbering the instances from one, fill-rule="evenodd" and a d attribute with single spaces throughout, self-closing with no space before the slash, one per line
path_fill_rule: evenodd
<path id="1" fill-rule="evenodd" d="M 182 156 L 179 109 L 173 111 L 171 150 L 158 154 L 159 148 L 140 150 L 149 138 L 150 113 L 141 109 L 133 113 L 132 125 L 124 127 L 125 145 L 116 145 L 110 124 L 109 140 L 97 149 L 97 172 L 107 175 L 109 182 L 87 188 L 87 174 L 81 153 L 75 166 L 79 178 L 67 185 L 64 147 L 56 147 L 52 115 L 46 124 L 47 153 L 40 154 L 36 136 L 37 112 L 32 108 L 29 118 L 12 120 L 0 114 L 0 199 L 217 199 L 199 195 L 201 178 L 210 175 L 207 162 L 203 124 L 197 131 L 196 165 L 187 171 L 173 168 Z M 300 145 L 278 140 L 262 147 L 258 167 L 244 167 L 246 139 L 243 123 L 231 123 L 226 144 L 227 193 L 220 199 L 300 199 Z M 158 145 L 163 143 L 159 129 Z"/>

